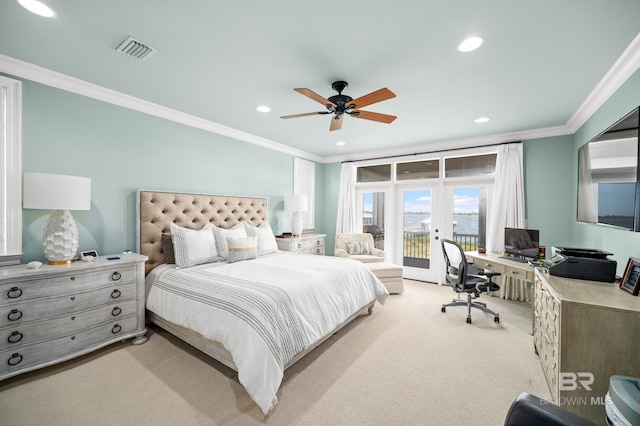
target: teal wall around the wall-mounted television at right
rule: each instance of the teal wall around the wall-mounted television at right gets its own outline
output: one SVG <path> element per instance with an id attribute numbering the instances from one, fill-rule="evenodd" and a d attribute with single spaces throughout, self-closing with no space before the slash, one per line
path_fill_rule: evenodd
<path id="1" fill-rule="evenodd" d="M 574 135 L 572 212 L 576 211 L 578 198 L 578 149 L 638 106 L 640 106 L 640 70 L 627 79 Z M 624 273 L 629 257 L 640 257 L 640 232 L 578 223 L 575 215 L 572 219 L 573 243 L 578 247 L 598 248 L 613 253 L 612 257 L 618 262 L 618 275 Z"/>

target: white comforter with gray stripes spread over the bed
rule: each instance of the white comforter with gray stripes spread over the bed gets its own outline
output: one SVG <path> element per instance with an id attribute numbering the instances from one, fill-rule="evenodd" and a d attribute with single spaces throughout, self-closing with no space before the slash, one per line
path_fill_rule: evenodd
<path id="1" fill-rule="evenodd" d="M 287 252 L 147 276 L 147 309 L 221 342 L 238 380 L 266 414 L 298 352 L 388 292 L 362 263 Z"/>

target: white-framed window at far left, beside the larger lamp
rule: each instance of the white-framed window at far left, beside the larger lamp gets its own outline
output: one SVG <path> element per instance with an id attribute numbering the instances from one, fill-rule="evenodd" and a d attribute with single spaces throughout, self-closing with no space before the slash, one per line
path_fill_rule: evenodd
<path id="1" fill-rule="evenodd" d="M 22 257 L 22 83 L 0 76 L 0 265 Z"/>

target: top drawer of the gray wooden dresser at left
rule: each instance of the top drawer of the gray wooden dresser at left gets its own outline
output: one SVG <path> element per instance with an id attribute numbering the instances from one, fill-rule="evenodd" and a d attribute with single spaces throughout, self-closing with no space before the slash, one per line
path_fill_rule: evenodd
<path id="1" fill-rule="evenodd" d="M 55 297 L 106 286 L 112 283 L 134 282 L 136 270 L 133 266 L 105 268 L 97 271 L 69 272 L 48 278 L 22 280 L 0 284 L 0 305 L 23 300 Z"/>

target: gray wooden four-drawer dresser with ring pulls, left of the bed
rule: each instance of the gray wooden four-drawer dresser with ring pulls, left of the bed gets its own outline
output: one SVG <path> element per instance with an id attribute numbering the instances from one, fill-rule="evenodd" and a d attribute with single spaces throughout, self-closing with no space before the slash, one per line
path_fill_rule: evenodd
<path id="1" fill-rule="evenodd" d="M 144 343 L 146 260 L 0 268 L 0 380 L 124 339 Z"/>

